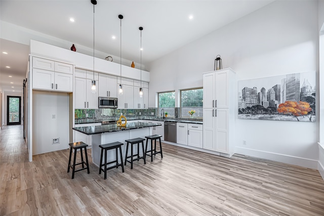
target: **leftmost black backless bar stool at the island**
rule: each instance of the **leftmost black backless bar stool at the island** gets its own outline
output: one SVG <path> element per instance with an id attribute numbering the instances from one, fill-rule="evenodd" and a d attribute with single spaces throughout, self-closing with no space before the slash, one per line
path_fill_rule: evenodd
<path id="1" fill-rule="evenodd" d="M 87 154 L 87 144 L 85 144 L 84 142 L 76 142 L 76 143 L 69 143 L 70 146 L 70 156 L 69 156 L 69 164 L 67 167 L 67 172 L 70 172 L 70 167 L 72 168 L 72 179 L 74 179 L 74 172 L 77 171 L 81 171 L 84 169 L 88 170 L 88 174 L 90 174 L 90 170 L 89 170 L 89 162 L 88 162 L 88 154 Z M 73 157 L 73 165 L 71 165 L 71 156 L 72 156 L 72 149 L 74 149 L 74 157 Z M 80 149 L 80 153 L 81 153 L 81 162 L 80 163 L 75 163 L 76 160 L 76 151 Z M 85 154 L 86 154 L 86 161 L 83 160 L 83 153 L 82 153 L 82 149 L 85 150 Z M 77 169 L 75 170 L 75 165 L 79 165 L 82 164 L 82 169 Z M 85 167 L 85 165 L 87 167 Z"/>

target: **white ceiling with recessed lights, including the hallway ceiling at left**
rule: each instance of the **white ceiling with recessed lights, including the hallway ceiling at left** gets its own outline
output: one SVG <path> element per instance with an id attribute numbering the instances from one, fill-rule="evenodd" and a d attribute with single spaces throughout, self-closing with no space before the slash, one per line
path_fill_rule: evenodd
<path id="1" fill-rule="evenodd" d="M 233 22 L 273 1 L 108 1 L 97 0 L 95 14 L 90 0 L 15 1 L 1 0 L 2 21 L 51 35 L 76 45 L 112 56 L 140 62 L 140 30 L 142 26 L 142 64 L 147 64 Z M 94 18 L 95 15 L 95 18 Z M 193 16 L 189 20 L 189 15 Z M 74 23 L 69 18 L 75 19 Z M 95 22 L 94 22 L 95 19 Z M 111 36 L 115 35 L 116 39 Z M 36 38 L 30 38 L 36 39 Z M 37 40 L 37 39 L 36 39 Z M 0 40 L 0 85 L 4 92 L 22 92 L 29 47 L 9 40 Z M 66 48 L 66 49 L 69 49 Z M 82 49 L 79 49 L 82 50 Z M 84 50 L 84 49 L 83 49 Z M 114 59 L 114 62 L 119 62 Z M 5 66 L 11 66 L 6 68 Z M 9 74 L 15 76 L 9 79 Z M 17 78 L 17 79 L 16 79 Z M 14 84 L 10 81 L 14 80 Z M 17 84 L 17 86 L 16 86 Z M 11 87 L 15 88 L 11 88 Z M 20 89 L 20 91 L 19 91 Z"/>

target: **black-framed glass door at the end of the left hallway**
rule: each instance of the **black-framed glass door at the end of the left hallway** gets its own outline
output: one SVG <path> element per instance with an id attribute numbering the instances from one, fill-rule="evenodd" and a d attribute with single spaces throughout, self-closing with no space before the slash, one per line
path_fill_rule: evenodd
<path id="1" fill-rule="evenodd" d="M 7 125 L 21 124 L 21 97 L 7 96 Z"/>

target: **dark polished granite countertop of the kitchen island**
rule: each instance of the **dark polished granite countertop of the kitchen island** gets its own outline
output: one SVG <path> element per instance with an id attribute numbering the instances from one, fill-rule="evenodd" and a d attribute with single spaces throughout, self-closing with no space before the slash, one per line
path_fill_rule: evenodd
<path id="1" fill-rule="evenodd" d="M 102 134 L 102 133 L 109 133 L 109 132 L 117 132 L 117 131 L 125 131 L 129 129 L 138 129 L 143 127 L 153 127 L 159 126 L 160 123 L 144 123 L 144 122 L 133 122 L 127 123 L 126 126 L 117 126 L 117 124 L 104 124 L 104 125 L 97 125 L 97 126 L 84 126 L 84 127 L 73 127 L 73 129 L 77 132 L 86 134 L 86 135 L 93 135 L 93 134 Z"/>

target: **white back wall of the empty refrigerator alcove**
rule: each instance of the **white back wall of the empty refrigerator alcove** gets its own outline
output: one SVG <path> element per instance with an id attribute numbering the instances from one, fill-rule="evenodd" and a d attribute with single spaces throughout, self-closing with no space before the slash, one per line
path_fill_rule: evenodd
<path id="1" fill-rule="evenodd" d="M 69 95 L 32 92 L 32 154 L 67 149 L 69 144 Z M 55 115 L 55 118 L 52 117 Z M 60 144 L 52 145 L 53 138 Z"/>

